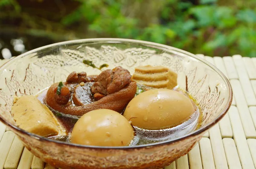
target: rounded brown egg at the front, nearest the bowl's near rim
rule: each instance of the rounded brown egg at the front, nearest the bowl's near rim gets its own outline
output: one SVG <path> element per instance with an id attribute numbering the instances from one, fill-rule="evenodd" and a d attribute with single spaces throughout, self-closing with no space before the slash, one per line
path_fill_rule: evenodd
<path id="1" fill-rule="evenodd" d="M 71 133 L 71 142 L 93 146 L 128 146 L 133 135 L 133 128 L 124 116 L 113 110 L 98 109 L 79 118 Z"/>

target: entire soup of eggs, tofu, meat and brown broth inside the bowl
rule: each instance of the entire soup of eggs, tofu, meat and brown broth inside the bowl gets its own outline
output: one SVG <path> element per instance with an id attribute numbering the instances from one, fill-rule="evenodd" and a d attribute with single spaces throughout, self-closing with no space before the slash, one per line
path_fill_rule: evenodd
<path id="1" fill-rule="evenodd" d="M 120 66 L 99 75 L 72 72 L 37 96 L 17 98 L 12 114 L 23 130 L 95 146 L 172 140 L 198 129 L 202 121 L 195 99 L 177 85 L 177 73 L 150 65 L 135 68 L 134 75 Z"/>

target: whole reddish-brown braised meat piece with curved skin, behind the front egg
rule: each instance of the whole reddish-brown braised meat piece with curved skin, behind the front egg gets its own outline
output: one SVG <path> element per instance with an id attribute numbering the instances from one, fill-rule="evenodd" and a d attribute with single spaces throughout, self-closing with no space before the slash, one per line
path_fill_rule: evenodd
<path id="1" fill-rule="evenodd" d="M 130 72 L 120 66 L 113 70 L 105 70 L 99 76 L 87 76 L 86 73 L 80 73 L 77 74 L 77 77 L 78 79 L 76 73 L 70 73 L 67 82 L 64 82 L 64 85 L 80 83 L 76 87 L 71 87 L 73 102 L 68 101 L 67 104 L 60 104 L 58 99 L 54 99 L 54 89 L 58 86 L 58 83 L 49 88 L 46 102 L 52 109 L 70 115 L 84 115 L 84 113 L 96 109 L 110 109 L 122 113 L 125 106 L 134 98 L 137 90 L 137 83 L 131 82 Z M 90 90 L 86 85 L 88 83 L 80 82 L 84 81 L 81 80 L 82 77 L 90 79 L 90 82 L 95 81 Z M 76 83 L 73 79 L 76 80 Z M 92 102 L 92 96 L 94 102 Z M 76 106 L 73 106 L 73 103 Z"/>

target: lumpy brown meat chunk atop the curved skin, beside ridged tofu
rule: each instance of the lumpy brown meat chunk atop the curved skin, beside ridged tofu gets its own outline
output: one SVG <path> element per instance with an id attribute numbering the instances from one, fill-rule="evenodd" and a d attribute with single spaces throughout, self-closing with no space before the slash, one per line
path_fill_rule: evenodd
<path id="1" fill-rule="evenodd" d="M 118 66 L 113 70 L 105 70 L 99 74 L 91 87 L 93 94 L 109 95 L 115 93 L 131 82 L 131 74 L 127 69 Z"/>

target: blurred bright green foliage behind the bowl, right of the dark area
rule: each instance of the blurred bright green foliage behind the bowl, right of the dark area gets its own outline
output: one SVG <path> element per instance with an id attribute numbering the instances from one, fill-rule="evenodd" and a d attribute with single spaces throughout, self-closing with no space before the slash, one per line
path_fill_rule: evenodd
<path id="1" fill-rule="evenodd" d="M 256 57 L 254 0 L 77 1 L 79 7 L 58 21 L 75 38 L 141 39 L 194 54 Z M 0 0 L 0 8 L 6 4 L 22 11 L 15 0 Z"/>

